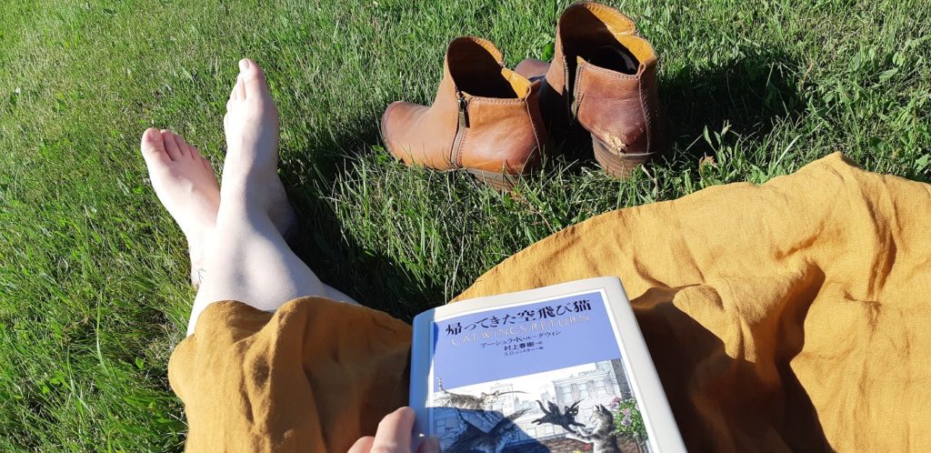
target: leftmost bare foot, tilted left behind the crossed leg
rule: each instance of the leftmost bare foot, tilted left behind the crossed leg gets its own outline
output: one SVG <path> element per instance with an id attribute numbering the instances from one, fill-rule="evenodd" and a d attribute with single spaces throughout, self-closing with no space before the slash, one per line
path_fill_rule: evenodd
<path id="1" fill-rule="evenodd" d="M 203 278 L 207 242 L 217 224 L 220 185 L 210 161 L 170 130 L 145 130 L 141 147 L 155 195 L 187 238 L 191 282 L 197 286 Z"/>

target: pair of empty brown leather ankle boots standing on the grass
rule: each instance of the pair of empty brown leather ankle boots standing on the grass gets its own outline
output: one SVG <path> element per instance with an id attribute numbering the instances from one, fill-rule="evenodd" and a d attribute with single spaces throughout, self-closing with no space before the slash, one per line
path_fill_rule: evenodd
<path id="1" fill-rule="evenodd" d="M 381 131 L 408 165 L 465 169 L 510 188 L 539 168 L 546 144 L 572 141 L 580 126 L 601 167 L 626 178 L 661 150 L 658 107 L 656 55 L 634 21 L 580 2 L 560 16 L 552 63 L 528 59 L 511 71 L 491 42 L 453 39 L 433 105 L 392 103 Z"/>

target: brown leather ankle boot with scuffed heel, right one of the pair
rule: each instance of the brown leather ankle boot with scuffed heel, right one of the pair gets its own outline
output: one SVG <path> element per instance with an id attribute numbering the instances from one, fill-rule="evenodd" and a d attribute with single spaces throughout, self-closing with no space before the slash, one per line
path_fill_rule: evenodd
<path id="1" fill-rule="evenodd" d="M 520 62 L 516 71 L 542 79 L 540 104 L 555 142 L 581 126 L 595 158 L 618 178 L 663 150 L 656 94 L 656 55 L 634 21 L 613 7 L 581 2 L 556 26 L 553 62 Z"/>

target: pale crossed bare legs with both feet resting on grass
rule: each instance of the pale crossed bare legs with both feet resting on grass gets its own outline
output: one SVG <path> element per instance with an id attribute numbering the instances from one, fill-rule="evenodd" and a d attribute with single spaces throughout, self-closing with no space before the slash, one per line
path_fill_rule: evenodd
<path id="1" fill-rule="evenodd" d="M 187 238 L 191 281 L 199 287 L 188 335 L 200 312 L 220 300 L 263 310 L 304 295 L 355 303 L 323 284 L 284 238 L 295 216 L 277 175 L 277 108 L 251 60 L 239 62 L 223 129 L 222 187 L 209 160 L 180 135 L 155 128 L 142 134 L 155 194 Z"/>

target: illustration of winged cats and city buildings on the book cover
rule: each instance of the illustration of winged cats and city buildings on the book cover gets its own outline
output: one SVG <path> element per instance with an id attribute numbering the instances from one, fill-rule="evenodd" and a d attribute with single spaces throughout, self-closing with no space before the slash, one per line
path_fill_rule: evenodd
<path id="1" fill-rule="evenodd" d="M 432 396 L 433 434 L 450 453 L 648 452 L 620 359 L 444 389 Z"/>

